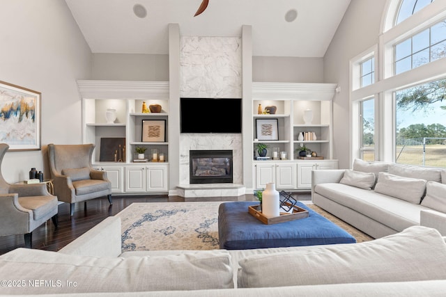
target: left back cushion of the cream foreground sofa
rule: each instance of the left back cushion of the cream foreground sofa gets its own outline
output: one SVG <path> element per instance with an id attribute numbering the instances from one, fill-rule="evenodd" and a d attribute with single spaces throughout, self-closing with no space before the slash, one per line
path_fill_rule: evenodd
<path id="1" fill-rule="evenodd" d="M 2 294 L 67 294 L 233 288 L 225 250 L 169 257 L 82 257 L 18 248 L 0 256 L 1 280 L 60 280 L 61 287 L 5 287 Z M 76 287 L 66 286 L 76 282 Z"/>

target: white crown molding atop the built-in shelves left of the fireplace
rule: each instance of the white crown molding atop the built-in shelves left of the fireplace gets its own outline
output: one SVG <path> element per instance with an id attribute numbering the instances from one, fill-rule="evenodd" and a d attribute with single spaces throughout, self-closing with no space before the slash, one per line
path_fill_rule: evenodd
<path id="1" fill-rule="evenodd" d="M 78 80 L 84 99 L 169 99 L 169 81 Z"/>

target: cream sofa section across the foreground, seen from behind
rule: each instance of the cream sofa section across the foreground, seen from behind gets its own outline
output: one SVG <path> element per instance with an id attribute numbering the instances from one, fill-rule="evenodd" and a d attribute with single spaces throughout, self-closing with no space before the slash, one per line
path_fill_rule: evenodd
<path id="1" fill-rule="evenodd" d="M 429 227 L 364 243 L 121 252 L 109 217 L 59 252 L 0 256 L 0 295 L 444 296 L 445 237 Z"/>

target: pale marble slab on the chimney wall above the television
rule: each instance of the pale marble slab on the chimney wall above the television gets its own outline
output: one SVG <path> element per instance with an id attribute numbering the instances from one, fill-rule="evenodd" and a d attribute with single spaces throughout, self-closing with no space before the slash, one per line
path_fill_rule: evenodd
<path id="1" fill-rule="evenodd" d="M 180 38 L 180 97 L 240 98 L 240 38 Z"/>

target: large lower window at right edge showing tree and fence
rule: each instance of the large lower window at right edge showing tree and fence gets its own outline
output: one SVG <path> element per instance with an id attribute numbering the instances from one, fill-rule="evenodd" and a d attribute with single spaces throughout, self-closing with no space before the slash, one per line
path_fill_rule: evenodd
<path id="1" fill-rule="evenodd" d="M 397 163 L 446 167 L 446 79 L 395 95 Z"/>

